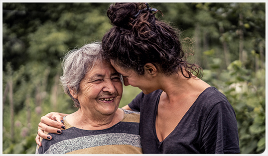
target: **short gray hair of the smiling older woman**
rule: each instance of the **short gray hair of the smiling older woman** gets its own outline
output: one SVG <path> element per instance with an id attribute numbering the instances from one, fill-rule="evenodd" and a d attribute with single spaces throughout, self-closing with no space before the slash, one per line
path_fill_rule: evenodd
<path id="1" fill-rule="evenodd" d="M 65 54 L 62 61 L 63 76 L 60 77 L 64 92 L 74 101 L 75 107 L 80 107 L 78 99 L 75 99 L 69 89 L 79 93 L 79 84 L 89 72 L 96 61 L 102 61 L 101 43 L 86 44 L 79 49 L 73 49 Z"/>

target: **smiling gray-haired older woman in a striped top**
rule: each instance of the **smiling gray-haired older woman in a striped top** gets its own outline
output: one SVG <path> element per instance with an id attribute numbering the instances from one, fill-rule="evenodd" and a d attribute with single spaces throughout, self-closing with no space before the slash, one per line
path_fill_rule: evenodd
<path id="1" fill-rule="evenodd" d="M 61 135 L 42 140 L 36 154 L 141 154 L 139 114 L 119 109 L 123 84 L 100 43 L 71 51 L 60 78 L 79 109 L 63 119 Z"/>

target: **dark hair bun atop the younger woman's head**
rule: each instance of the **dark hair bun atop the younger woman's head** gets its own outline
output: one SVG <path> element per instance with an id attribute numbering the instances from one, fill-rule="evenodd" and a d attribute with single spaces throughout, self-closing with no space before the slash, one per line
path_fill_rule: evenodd
<path id="1" fill-rule="evenodd" d="M 134 15 L 138 12 L 139 3 L 115 3 L 111 4 L 107 10 L 107 16 L 111 23 L 118 27 L 130 27 L 134 20 Z"/>

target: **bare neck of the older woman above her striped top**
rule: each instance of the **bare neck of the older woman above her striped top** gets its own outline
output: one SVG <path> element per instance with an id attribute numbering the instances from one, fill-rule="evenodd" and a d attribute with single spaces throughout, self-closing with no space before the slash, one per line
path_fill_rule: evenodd
<path id="1" fill-rule="evenodd" d="M 111 115 L 93 114 L 83 108 L 66 116 L 68 123 L 74 127 L 85 130 L 103 130 L 120 122 L 124 117 L 124 111 L 118 109 Z"/>

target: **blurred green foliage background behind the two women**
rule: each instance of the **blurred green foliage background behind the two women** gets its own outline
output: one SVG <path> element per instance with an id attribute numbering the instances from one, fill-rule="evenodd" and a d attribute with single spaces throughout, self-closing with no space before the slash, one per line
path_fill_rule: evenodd
<path id="1" fill-rule="evenodd" d="M 59 85 L 61 57 L 101 41 L 111 27 L 111 3 L 2 3 L 2 152 L 34 154 L 40 118 L 77 110 Z M 149 3 L 160 20 L 181 30 L 189 57 L 203 80 L 224 93 L 235 109 L 241 154 L 266 145 L 266 4 Z M 187 40 L 184 40 L 187 38 Z M 120 107 L 140 92 L 124 87 Z"/>

